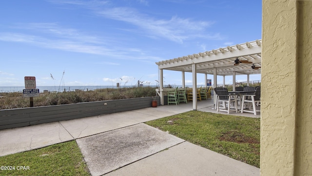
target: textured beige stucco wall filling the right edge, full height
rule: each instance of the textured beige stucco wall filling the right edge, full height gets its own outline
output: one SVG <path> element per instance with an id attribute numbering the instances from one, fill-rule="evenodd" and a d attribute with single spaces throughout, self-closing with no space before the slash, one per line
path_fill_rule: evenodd
<path id="1" fill-rule="evenodd" d="M 312 175 L 311 9 L 262 0 L 261 176 Z"/>

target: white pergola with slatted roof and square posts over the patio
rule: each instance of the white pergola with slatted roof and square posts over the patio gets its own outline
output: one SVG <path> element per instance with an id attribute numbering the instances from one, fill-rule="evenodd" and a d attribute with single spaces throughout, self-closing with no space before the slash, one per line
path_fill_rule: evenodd
<path id="1" fill-rule="evenodd" d="M 261 66 L 261 44 L 261 39 L 258 39 L 206 51 L 204 53 L 156 62 L 159 69 L 159 89 L 156 89 L 156 91 L 160 96 L 160 104 L 164 105 L 163 70 L 182 72 L 183 88 L 185 87 L 185 72 L 192 72 L 193 95 L 196 95 L 197 73 L 205 74 L 205 81 L 207 81 L 207 74 L 214 75 L 213 87 L 217 86 L 217 75 L 223 76 L 223 80 L 225 76 L 233 75 L 233 90 L 235 90 L 236 75 L 247 75 L 247 82 L 249 82 L 250 74 L 261 74 L 261 69 L 252 68 L 253 65 L 256 67 Z M 234 60 L 236 58 L 239 60 L 248 60 L 253 63 L 240 63 L 234 65 Z M 196 100 L 193 100 L 193 110 L 197 110 Z"/>

